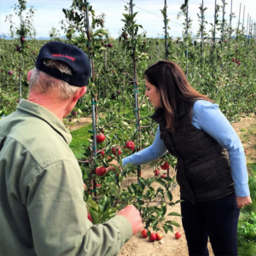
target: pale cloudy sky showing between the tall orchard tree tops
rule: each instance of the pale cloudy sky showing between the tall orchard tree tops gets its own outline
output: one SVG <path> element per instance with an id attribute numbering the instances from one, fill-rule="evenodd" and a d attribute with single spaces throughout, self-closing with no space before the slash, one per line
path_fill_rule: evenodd
<path id="1" fill-rule="evenodd" d="M 216 0 L 217 4 L 222 4 L 221 0 Z M 237 26 L 239 9 L 241 5 L 241 22 L 244 12 L 244 26 L 247 28 L 247 16 L 251 17 L 253 22 L 256 22 L 256 4 L 255 0 L 233 0 L 232 1 L 232 12 L 236 14 L 236 18 L 232 19 L 232 25 Z M 125 5 L 129 0 L 90 0 L 90 5 L 92 9 L 95 10 L 96 15 L 101 15 L 104 13 L 106 15 L 105 27 L 108 28 L 110 36 L 112 38 L 118 38 L 121 32 L 124 22 L 123 19 L 125 11 Z M 215 0 L 204 0 L 204 6 L 207 7 L 206 11 L 206 20 L 208 21 L 207 30 L 211 29 L 209 23 L 213 23 L 214 19 L 214 4 Z M 49 31 L 52 27 L 60 30 L 61 35 L 64 34 L 61 31 L 60 21 L 65 20 L 65 16 L 62 12 L 62 9 L 68 9 L 72 0 L 28 0 L 26 3 L 26 8 L 29 9 L 33 7 L 37 11 L 34 15 L 34 20 L 32 21 L 33 26 L 37 31 L 38 37 L 49 37 Z M 147 37 L 157 38 L 163 35 L 163 26 L 164 21 L 160 13 L 160 9 L 163 9 L 165 5 L 165 0 L 133 0 L 134 12 L 137 14 L 137 24 L 143 26 L 139 32 L 146 31 Z M 183 21 L 184 18 L 181 17 L 177 20 L 177 14 L 179 12 L 181 4 L 184 3 L 184 0 L 166 0 L 167 4 L 167 16 L 168 19 L 171 19 L 169 26 L 169 35 L 173 38 L 181 37 L 183 31 Z M 189 17 L 192 21 L 192 30 L 193 34 L 199 30 L 199 21 L 197 13 L 199 13 L 199 6 L 202 3 L 202 0 L 189 0 Z M 230 4 L 231 0 L 226 0 L 228 3 L 225 7 L 226 14 L 225 19 L 230 20 Z M 5 22 L 7 15 L 13 15 L 13 21 L 18 26 L 19 19 L 15 16 L 14 9 L 11 9 L 15 4 L 18 4 L 17 0 L 0 0 L 0 35 L 9 34 L 9 22 Z M 25 12 L 26 14 L 26 12 Z M 24 14 L 24 15 L 25 15 Z"/>

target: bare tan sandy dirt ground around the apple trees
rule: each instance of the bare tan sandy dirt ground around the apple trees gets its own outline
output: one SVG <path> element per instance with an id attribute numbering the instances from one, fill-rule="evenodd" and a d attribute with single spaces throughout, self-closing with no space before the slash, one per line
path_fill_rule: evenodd
<path id="1" fill-rule="evenodd" d="M 76 120 L 73 120 L 74 123 Z M 78 129 L 79 126 L 84 125 L 90 122 L 89 119 L 79 119 L 76 125 L 67 125 L 70 127 L 70 130 L 73 131 Z M 232 126 L 236 130 L 238 136 L 241 139 L 241 143 L 245 149 L 247 163 L 256 162 L 256 118 L 254 115 L 250 117 L 241 118 L 241 121 L 237 123 L 233 123 Z M 172 177 L 175 173 L 170 172 L 170 176 Z M 154 177 L 153 169 L 148 166 L 143 166 L 142 177 Z M 125 183 L 136 183 L 137 177 L 128 177 L 125 179 Z M 155 184 L 157 186 L 158 184 Z M 172 190 L 173 201 L 179 200 L 179 187 L 177 186 Z M 177 204 L 174 207 L 167 208 L 167 212 L 179 212 L 180 206 Z M 180 224 L 180 227 L 173 227 L 174 233 L 179 231 L 182 233 L 180 239 L 175 239 L 174 234 L 168 232 L 161 241 L 149 242 L 148 239 L 144 239 L 137 234 L 136 236 L 131 237 L 131 240 L 126 242 L 124 247 L 122 247 L 119 256 L 186 256 L 188 255 L 187 243 L 183 231 L 183 227 L 181 224 L 180 217 L 171 217 L 167 216 L 166 219 L 175 220 Z M 210 255 L 214 255 L 212 253 L 211 244 L 208 243 L 208 249 Z"/>

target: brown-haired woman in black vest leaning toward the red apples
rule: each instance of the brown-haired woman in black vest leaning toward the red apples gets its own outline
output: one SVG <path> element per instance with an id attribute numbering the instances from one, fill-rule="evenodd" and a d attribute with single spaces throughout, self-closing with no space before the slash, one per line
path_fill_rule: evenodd
<path id="1" fill-rule="evenodd" d="M 193 89 L 172 61 L 148 67 L 145 86 L 145 96 L 157 108 L 151 118 L 159 127 L 154 143 L 123 159 L 124 166 L 155 160 L 166 149 L 176 156 L 189 255 L 208 255 L 208 237 L 215 255 L 237 255 L 240 208 L 252 201 L 236 131 L 218 105 Z"/>

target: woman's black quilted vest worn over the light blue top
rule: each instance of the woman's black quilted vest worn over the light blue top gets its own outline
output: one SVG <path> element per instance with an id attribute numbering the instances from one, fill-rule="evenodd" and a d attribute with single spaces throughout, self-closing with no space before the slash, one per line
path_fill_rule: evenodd
<path id="1" fill-rule="evenodd" d="M 182 105 L 178 110 L 174 134 L 166 129 L 162 108 L 158 108 L 151 118 L 160 125 L 160 137 L 166 148 L 177 157 L 176 178 L 185 199 L 195 203 L 234 193 L 227 150 L 191 124 L 189 109 Z"/>

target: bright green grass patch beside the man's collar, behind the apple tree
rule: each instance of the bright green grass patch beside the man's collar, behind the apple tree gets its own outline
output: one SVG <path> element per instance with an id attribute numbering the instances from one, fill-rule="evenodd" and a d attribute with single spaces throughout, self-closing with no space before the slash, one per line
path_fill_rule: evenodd
<path id="1" fill-rule="evenodd" d="M 71 131 L 72 143 L 70 143 L 70 148 L 77 159 L 82 159 L 84 157 L 84 146 L 88 147 L 90 145 L 88 139 L 91 137 L 92 124 L 84 125 L 76 131 Z"/>

